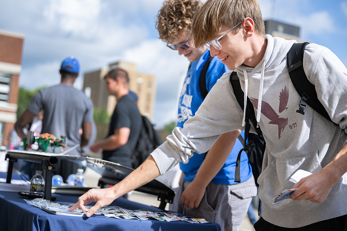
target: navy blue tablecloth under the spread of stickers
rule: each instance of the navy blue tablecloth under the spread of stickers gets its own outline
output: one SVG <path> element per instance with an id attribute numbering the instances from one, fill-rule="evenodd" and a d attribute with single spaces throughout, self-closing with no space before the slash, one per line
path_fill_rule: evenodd
<path id="1" fill-rule="evenodd" d="M 64 204 L 74 204 L 78 201 L 78 196 L 58 195 L 56 202 Z M 8 231 L 220 231 L 220 225 L 215 223 L 192 224 L 188 222 L 167 222 L 156 220 L 136 220 L 136 219 L 115 219 L 103 215 L 86 216 L 60 216 L 50 214 L 27 204 L 24 197 L 15 192 L 4 192 L 0 188 L 0 226 L 2 230 Z M 145 208 L 149 211 L 162 211 L 153 206 L 147 206 L 136 202 L 128 201 L 124 198 L 117 198 L 111 205 L 116 205 L 129 210 Z"/>

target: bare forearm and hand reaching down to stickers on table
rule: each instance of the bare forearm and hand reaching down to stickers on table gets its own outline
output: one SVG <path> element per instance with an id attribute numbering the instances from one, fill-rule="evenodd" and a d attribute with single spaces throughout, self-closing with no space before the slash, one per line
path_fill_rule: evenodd
<path id="1" fill-rule="evenodd" d="M 96 202 L 87 212 L 87 217 L 90 217 L 99 208 L 111 204 L 118 197 L 147 184 L 159 175 L 159 168 L 153 157 L 150 156 L 140 167 L 112 188 L 90 189 L 78 198 L 78 202 L 71 206 L 69 211 L 73 211 L 76 208 L 81 208 L 83 211 L 86 211 L 86 205 L 91 202 Z"/>

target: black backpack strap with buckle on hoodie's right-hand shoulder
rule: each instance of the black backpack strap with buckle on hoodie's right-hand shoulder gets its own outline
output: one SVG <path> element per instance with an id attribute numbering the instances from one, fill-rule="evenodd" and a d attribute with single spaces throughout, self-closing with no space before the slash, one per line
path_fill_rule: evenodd
<path id="1" fill-rule="evenodd" d="M 302 96 L 299 103 L 299 109 L 296 110 L 296 112 L 304 115 L 304 109 L 308 104 L 313 108 L 313 110 L 331 121 L 327 110 L 325 110 L 324 106 L 317 97 L 315 86 L 307 79 L 304 71 L 304 51 L 307 44 L 309 43 L 294 43 L 287 54 L 287 68 L 291 82 L 293 82 L 298 94 Z M 334 124 L 338 125 L 336 123 Z"/>

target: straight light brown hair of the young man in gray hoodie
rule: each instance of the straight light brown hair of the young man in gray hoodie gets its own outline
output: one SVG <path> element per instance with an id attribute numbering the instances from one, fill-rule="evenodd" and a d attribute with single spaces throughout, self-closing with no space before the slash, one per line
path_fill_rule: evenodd
<path id="1" fill-rule="evenodd" d="M 234 27 L 246 17 L 254 21 L 255 33 L 265 36 L 265 25 L 256 0 L 207 0 L 196 12 L 192 22 L 195 47 L 201 47 L 216 38 L 221 25 Z M 235 27 L 237 34 L 242 25 Z"/>

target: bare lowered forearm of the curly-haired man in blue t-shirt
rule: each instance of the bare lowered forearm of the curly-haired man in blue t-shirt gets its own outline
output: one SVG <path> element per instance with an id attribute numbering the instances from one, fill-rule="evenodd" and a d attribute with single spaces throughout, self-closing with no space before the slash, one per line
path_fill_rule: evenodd
<path id="1" fill-rule="evenodd" d="M 239 135 L 240 130 L 224 133 L 213 144 L 194 180 L 183 191 L 181 204 L 189 208 L 199 206 L 207 185 L 223 167 Z"/>

